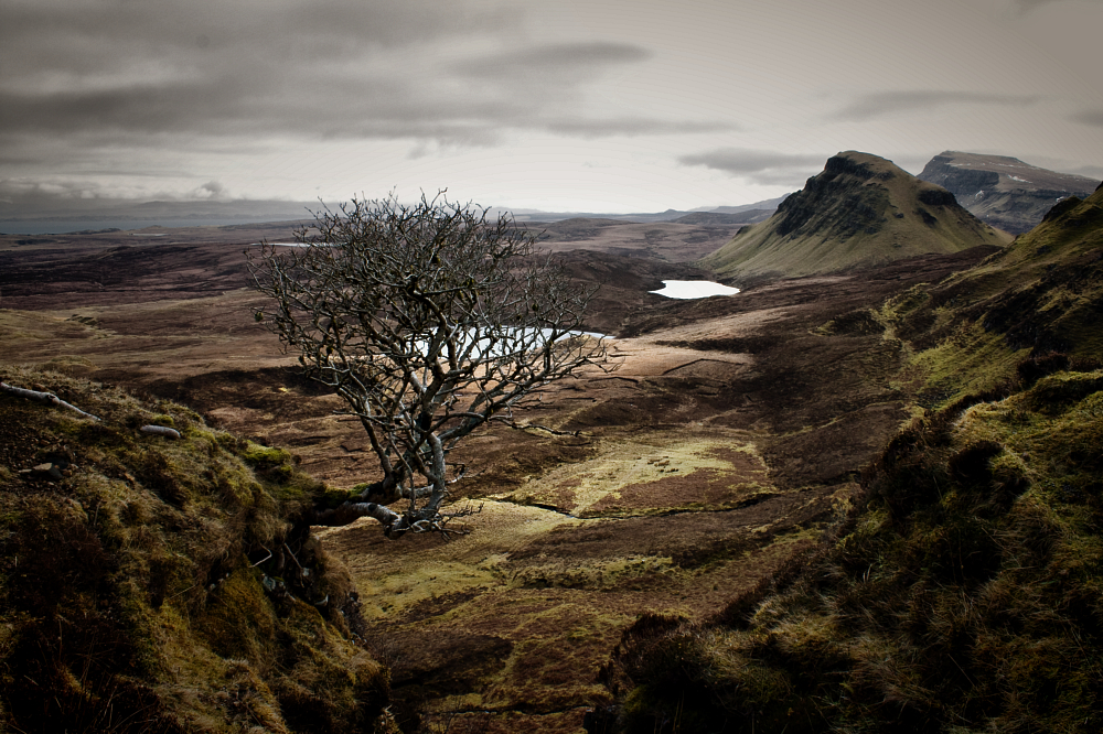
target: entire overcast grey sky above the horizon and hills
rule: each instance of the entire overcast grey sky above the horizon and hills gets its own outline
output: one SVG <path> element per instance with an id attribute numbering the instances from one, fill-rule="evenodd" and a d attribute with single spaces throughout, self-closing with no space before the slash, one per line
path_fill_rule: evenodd
<path id="1" fill-rule="evenodd" d="M 1101 36 L 1103 0 L 0 0 L 0 214 L 687 209 L 849 149 L 1100 179 Z"/>

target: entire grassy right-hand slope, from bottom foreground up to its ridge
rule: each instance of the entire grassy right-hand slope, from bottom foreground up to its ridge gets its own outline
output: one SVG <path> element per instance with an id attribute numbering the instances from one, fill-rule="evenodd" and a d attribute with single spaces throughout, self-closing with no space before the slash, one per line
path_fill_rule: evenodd
<path id="1" fill-rule="evenodd" d="M 1099 731 L 1101 304 L 1103 190 L 870 314 L 935 410 L 774 587 L 714 624 L 638 623 L 598 727 Z"/>

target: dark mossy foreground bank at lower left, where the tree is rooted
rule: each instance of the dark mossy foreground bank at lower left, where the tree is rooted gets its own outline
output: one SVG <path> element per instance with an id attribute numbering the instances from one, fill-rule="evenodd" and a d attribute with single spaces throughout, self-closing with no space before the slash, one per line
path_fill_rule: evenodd
<path id="1" fill-rule="evenodd" d="M 171 402 L 53 373 L 0 393 L 0 731 L 386 731 L 325 487 Z M 179 440 L 140 432 L 172 427 Z"/>

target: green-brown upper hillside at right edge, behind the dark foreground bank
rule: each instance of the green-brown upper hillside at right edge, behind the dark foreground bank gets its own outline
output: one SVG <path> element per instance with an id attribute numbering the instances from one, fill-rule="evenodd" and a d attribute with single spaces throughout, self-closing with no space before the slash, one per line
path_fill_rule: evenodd
<path id="1" fill-rule="evenodd" d="M 1026 357 L 1103 357 L 1103 185 L 1054 206 L 978 266 L 915 288 L 878 317 L 915 350 L 932 406 L 996 389 Z"/>

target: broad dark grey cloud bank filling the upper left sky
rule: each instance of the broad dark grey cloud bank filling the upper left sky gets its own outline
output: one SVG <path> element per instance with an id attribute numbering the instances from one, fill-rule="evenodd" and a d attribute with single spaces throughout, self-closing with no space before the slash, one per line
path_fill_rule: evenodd
<path id="1" fill-rule="evenodd" d="M 518 47 L 508 8 L 42 0 L 4 14 L 0 160 L 18 154 L 3 145 L 12 136 L 81 134 L 104 145 L 163 144 L 164 133 L 489 144 L 511 128 L 581 137 L 687 129 L 572 118 L 580 84 L 650 52 L 602 42 Z"/>

